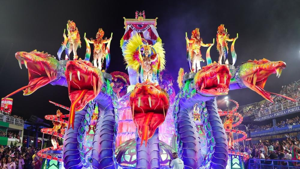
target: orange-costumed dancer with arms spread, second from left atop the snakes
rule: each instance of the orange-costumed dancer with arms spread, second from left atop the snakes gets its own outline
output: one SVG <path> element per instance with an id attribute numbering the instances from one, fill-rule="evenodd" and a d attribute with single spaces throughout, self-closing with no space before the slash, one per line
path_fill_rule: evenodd
<path id="1" fill-rule="evenodd" d="M 90 44 L 94 44 L 94 66 L 97 67 L 97 60 L 98 60 L 98 68 L 101 70 L 102 69 L 102 63 L 105 58 L 105 45 L 108 43 L 112 37 L 109 39 L 105 38 L 102 39 L 104 36 L 104 31 L 102 28 L 99 28 L 97 34 L 96 34 L 96 39 L 94 40 L 91 38 L 88 40 L 87 38 L 84 37 Z"/>

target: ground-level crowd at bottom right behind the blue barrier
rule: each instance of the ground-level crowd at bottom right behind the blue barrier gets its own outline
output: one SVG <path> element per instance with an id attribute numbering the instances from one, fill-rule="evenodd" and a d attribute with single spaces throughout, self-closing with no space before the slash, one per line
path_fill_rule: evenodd
<path id="1" fill-rule="evenodd" d="M 260 142 L 257 144 L 247 144 L 239 146 L 240 152 L 247 152 L 250 158 L 259 159 L 280 159 L 280 160 L 300 160 L 300 141 L 297 137 L 291 139 L 287 138 L 282 142 L 278 140 L 275 142 Z M 297 155 L 292 156 L 292 151 L 295 151 Z M 294 158 L 294 159 L 293 159 Z M 297 159 L 295 159 L 297 158 Z M 257 161 L 254 161 L 257 162 Z M 265 164 L 271 164 L 271 161 L 265 161 Z M 281 161 L 278 165 L 287 165 L 287 163 Z M 293 163 L 297 165 L 297 163 Z M 298 164 L 299 166 L 300 164 Z"/>

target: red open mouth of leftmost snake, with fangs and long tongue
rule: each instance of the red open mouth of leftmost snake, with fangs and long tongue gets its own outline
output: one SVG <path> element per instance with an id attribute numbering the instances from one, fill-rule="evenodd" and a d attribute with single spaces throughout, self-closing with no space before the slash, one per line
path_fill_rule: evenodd
<path id="1" fill-rule="evenodd" d="M 29 83 L 27 86 L 21 87 L 20 89 L 10 93 L 6 97 L 10 97 L 11 95 L 14 95 L 22 90 L 24 92 L 24 96 L 30 95 L 37 89 L 55 80 L 58 76 L 57 70 L 51 68 L 49 62 L 44 59 L 46 57 L 53 57 L 51 55 L 48 55 L 47 53 L 44 54 L 37 52 L 34 54 L 32 52 L 17 52 L 15 54 L 15 57 L 18 60 L 21 69 L 22 64 L 24 64 L 28 69 Z"/>

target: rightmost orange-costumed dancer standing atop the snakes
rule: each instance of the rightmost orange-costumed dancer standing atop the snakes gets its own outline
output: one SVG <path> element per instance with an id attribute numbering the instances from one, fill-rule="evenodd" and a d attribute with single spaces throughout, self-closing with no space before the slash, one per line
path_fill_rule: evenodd
<path id="1" fill-rule="evenodd" d="M 221 24 L 218 27 L 217 31 L 217 50 L 219 51 L 219 64 L 222 64 L 222 56 L 224 57 L 224 63 L 228 65 L 227 53 L 228 53 L 228 46 L 226 41 L 234 41 L 236 38 L 229 39 L 229 34 L 225 31 L 225 27 Z"/>

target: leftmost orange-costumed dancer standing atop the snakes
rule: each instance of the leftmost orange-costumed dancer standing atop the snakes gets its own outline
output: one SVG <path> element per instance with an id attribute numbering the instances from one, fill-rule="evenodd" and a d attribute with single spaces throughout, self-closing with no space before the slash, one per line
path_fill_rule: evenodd
<path id="1" fill-rule="evenodd" d="M 68 60 L 68 55 L 73 51 L 74 60 L 77 60 L 77 47 L 81 47 L 80 35 L 78 28 L 76 27 L 75 22 L 68 20 L 67 23 L 67 31 L 68 31 L 68 43 L 66 47 L 66 57 L 65 59 Z M 64 37 L 66 35 L 64 34 Z"/>

